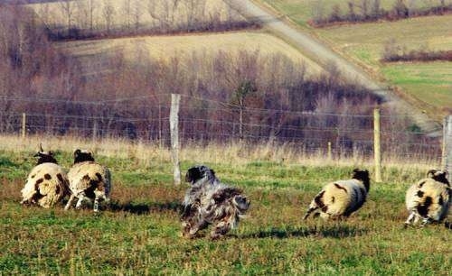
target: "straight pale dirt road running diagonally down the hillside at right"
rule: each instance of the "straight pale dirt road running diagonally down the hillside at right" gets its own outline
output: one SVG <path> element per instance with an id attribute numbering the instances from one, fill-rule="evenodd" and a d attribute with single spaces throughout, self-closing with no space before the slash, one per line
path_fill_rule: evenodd
<path id="1" fill-rule="evenodd" d="M 346 78 L 353 81 L 361 82 L 365 87 L 371 89 L 375 94 L 383 97 L 388 105 L 393 106 L 401 115 L 408 115 L 414 123 L 432 136 L 441 135 L 440 125 L 433 122 L 427 115 L 422 113 L 414 106 L 410 106 L 407 102 L 396 96 L 390 89 L 381 83 L 373 80 L 363 69 L 358 68 L 352 62 L 345 60 L 320 41 L 310 36 L 289 23 L 284 22 L 275 14 L 270 14 L 266 10 L 255 5 L 250 0 L 225 0 L 233 8 L 237 9 L 240 14 L 249 18 L 258 19 L 270 31 L 278 36 L 291 41 L 299 49 L 302 49 L 310 58 L 325 66 L 328 62 L 333 61 L 342 71 Z"/>

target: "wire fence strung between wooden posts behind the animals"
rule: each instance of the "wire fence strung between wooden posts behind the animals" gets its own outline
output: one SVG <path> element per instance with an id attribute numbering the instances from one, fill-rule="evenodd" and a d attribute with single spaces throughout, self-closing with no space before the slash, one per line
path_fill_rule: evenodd
<path id="1" fill-rule="evenodd" d="M 14 112 L 7 108 L 0 112 L 2 133 L 20 135 L 24 128 L 25 134 L 93 139 L 122 137 L 158 141 L 166 146 L 170 143 L 168 95 L 97 102 L 16 97 L 2 97 L 0 101 L 15 106 Z M 29 105 L 24 105 L 27 103 Z M 29 108 L 32 103 L 33 108 Z M 21 105 L 24 106 L 22 112 Z M 370 158 L 373 154 L 372 109 L 369 114 L 355 114 L 353 110 L 327 113 L 263 109 L 183 95 L 179 112 L 182 146 L 189 143 L 273 143 L 305 153 L 323 151 L 325 156 L 332 157 L 361 155 Z M 438 131 L 442 133 L 440 125 Z M 407 116 L 382 113 L 380 133 L 383 157 L 441 160 L 442 137 L 423 133 L 410 124 Z"/>

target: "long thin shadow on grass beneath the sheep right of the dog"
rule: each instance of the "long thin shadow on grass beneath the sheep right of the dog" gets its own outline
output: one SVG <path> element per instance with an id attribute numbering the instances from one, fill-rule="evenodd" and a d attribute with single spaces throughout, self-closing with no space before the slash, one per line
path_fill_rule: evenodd
<path id="1" fill-rule="evenodd" d="M 270 228 L 262 230 L 258 233 L 251 233 L 249 235 L 241 235 L 239 238 L 279 238 L 285 239 L 290 237 L 333 237 L 344 238 L 351 236 L 366 235 L 368 232 L 365 228 L 359 228 L 352 225 L 321 225 L 299 228 Z"/>

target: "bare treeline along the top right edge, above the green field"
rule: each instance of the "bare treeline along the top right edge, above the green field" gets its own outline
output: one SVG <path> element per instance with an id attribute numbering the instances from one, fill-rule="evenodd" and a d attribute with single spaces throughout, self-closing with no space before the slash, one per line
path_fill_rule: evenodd
<path id="1" fill-rule="evenodd" d="M 336 23 L 367 23 L 379 20 L 395 21 L 427 15 L 443 15 L 452 12 L 452 4 L 438 0 L 438 5 L 419 8 L 417 1 L 395 0 L 390 10 L 381 8 L 381 0 L 347 1 L 347 8 L 333 5 L 329 14 L 323 6 L 315 5 L 314 17 L 310 21 L 315 27 L 324 27 Z"/>

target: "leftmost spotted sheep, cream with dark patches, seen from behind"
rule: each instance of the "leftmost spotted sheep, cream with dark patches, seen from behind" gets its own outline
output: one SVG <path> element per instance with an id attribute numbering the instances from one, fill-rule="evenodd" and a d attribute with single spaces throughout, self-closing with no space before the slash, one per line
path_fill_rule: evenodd
<path id="1" fill-rule="evenodd" d="M 58 165 L 52 152 L 44 152 L 42 146 L 36 166 L 27 177 L 21 204 L 37 204 L 49 208 L 69 193 L 69 180 L 66 172 Z"/>

